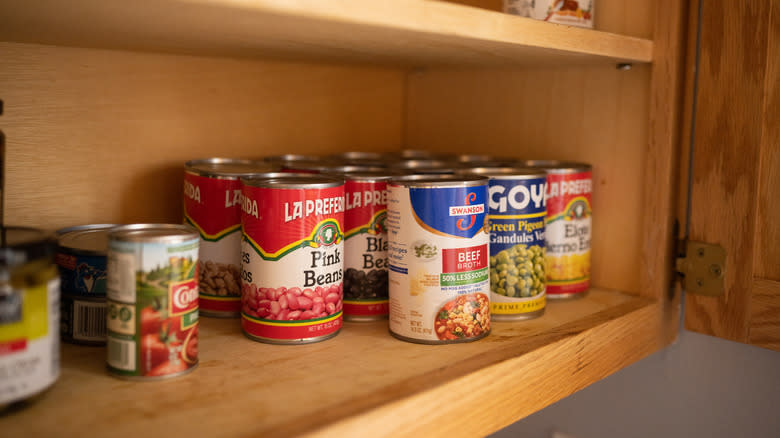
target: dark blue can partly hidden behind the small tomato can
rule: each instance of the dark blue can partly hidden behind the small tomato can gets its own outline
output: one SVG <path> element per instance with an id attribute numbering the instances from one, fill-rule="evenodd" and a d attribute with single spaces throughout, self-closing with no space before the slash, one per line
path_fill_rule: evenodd
<path id="1" fill-rule="evenodd" d="M 76 344 L 106 343 L 106 253 L 114 224 L 57 231 L 55 262 L 60 270 L 60 336 Z"/>

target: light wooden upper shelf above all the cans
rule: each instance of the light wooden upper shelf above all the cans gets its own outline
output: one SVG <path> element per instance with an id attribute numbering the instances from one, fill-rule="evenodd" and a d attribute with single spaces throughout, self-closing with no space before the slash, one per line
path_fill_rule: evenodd
<path id="1" fill-rule="evenodd" d="M 0 0 L 0 40 L 401 65 L 650 62 L 653 42 L 430 0 Z"/>

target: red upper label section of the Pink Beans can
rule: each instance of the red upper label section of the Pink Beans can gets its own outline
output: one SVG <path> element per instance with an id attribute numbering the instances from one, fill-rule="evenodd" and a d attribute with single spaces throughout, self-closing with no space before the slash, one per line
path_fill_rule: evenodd
<path id="1" fill-rule="evenodd" d="M 306 242 L 319 247 L 342 240 L 344 186 L 325 189 L 244 186 L 241 209 L 244 235 L 266 259 L 282 257 Z"/>

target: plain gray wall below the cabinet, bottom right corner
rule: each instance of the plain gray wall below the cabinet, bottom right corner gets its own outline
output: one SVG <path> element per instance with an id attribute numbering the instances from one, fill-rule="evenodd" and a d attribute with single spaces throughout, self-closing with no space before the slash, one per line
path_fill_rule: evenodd
<path id="1" fill-rule="evenodd" d="M 780 353 L 681 332 L 495 438 L 780 437 Z"/>

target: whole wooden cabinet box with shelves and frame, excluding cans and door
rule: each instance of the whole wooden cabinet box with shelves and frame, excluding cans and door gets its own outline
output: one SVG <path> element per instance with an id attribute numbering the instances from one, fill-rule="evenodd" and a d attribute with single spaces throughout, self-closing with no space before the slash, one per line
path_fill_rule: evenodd
<path id="1" fill-rule="evenodd" d="M 625 3 L 601 0 L 596 31 L 426 0 L 0 1 L 6 224 L 179 222 L 183 162 L 207 156 L 574 159 L 595 186 L 594 288 L 543 318 L 467 345 L 372 323 L 292 347 L 204 318 L 200 368 L 153 384 L 66 345 L 0 429 L 485 434 L 666 346 L 688 5 Z"/>

